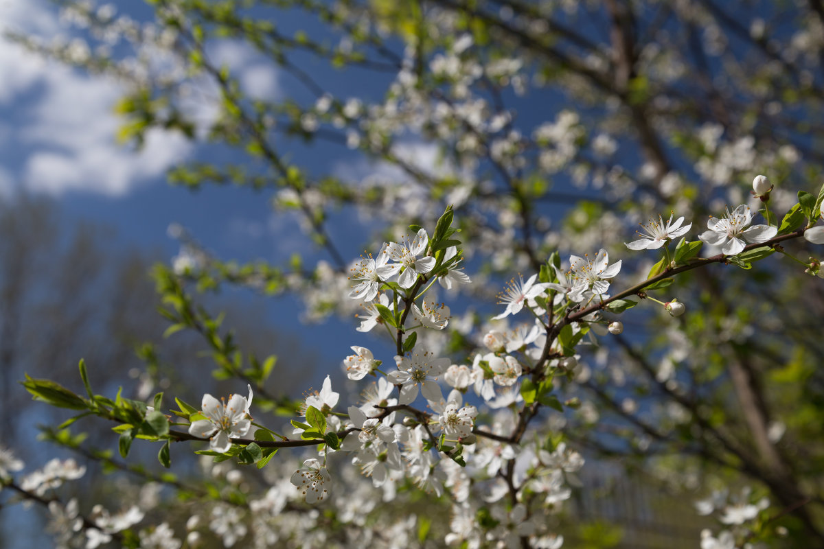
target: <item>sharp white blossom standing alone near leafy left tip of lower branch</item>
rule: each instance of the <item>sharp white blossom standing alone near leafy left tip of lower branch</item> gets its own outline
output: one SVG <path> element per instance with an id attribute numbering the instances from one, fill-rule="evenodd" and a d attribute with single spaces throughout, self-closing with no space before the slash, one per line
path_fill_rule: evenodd
<path id="1" fill-rule="evenodd" d="M 251 398 L 250 389 L 250 401 Z M 223 402 L 206 393 L 200 406 L 200 413 L 206 416 L 206 419 L 193 421 L 189 426 L 189 434 L 203 438 L 208 436 L 209 448 L 214 452 L 227 452 L 232 448 L 230 438 L 245 436 L 252 426 L 248 417 L 249 407 L 246 405 L 246 398 L 239 394 L 232 394 L 229 402 Z"/>

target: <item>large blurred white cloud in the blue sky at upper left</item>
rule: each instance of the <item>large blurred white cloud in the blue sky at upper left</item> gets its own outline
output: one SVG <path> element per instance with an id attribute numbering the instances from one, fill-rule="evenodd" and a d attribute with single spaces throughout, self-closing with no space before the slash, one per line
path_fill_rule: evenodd
<path id="1" fill-rule="evenodd" d="M 0 21 L 4 29 L 35 35 L 60 31 L 57 13 L 43 2 L 0 2 Z M 6 38 L 0 38 L 0 82 L 0 106 L 25 114 L 25 125 L 15 128 L 23 158 L 2 162 L 20 163 L 21 173 L 0 173 L 0 192 L 14 180 L 53 195 L 83 190 L 122 196 L 193 150 L 180 134 L 162 130 L 148 133 L 141 151 L 120 145 L 115 134 L 122 119 L 112 110 L 123 94 L 118 84 L 45 61 Z"/>

